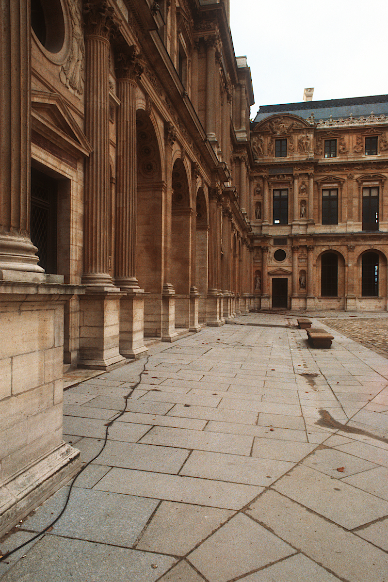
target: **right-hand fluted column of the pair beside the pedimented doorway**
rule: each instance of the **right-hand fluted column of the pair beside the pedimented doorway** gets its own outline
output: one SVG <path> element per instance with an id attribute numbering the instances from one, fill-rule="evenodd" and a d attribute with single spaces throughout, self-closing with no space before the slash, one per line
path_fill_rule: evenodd
<path id="1" fill-rule="evenodd" d="M 118 98 L 116 260 L 115 282 L 121 288 L 138 288 L 136 279 L 136 81 L 143 67 L 134 46 L 122 45 L 116 53 Z"/>

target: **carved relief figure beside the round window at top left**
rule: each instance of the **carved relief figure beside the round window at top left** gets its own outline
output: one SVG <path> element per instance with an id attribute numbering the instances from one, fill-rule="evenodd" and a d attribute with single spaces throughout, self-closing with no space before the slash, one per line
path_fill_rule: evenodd
<path id="1" fill-rule="evenodd" d="M 81 28 L 81 12 L 78 0 L 69 1 L 69 13 L 72 20 L 72 49 L 69 58 L 60 69 L 59 78 L 67 87 L 72 87 L 79 95 L 83 93 L 82 68 L 85 54 L 84 38 Z"/>

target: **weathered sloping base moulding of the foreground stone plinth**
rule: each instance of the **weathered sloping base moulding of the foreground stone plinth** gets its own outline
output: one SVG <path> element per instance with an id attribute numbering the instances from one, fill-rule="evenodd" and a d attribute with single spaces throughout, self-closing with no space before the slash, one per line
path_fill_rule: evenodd
<path id="1" fill-rule="evenodd" d="M 0 538 L 66 484 L 81 467 L 80 452 L 63 442 L 0 487 Z"/>

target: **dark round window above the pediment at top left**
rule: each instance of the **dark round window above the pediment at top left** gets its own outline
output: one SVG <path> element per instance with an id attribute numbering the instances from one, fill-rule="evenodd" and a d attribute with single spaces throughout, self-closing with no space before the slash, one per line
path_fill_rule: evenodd
<path id="1" fill-rule="evenodd" d="M 31 27 L 46 51 L 60 52 L 65 42 L 65 19 L 60 0 L 31 0 Z"/>

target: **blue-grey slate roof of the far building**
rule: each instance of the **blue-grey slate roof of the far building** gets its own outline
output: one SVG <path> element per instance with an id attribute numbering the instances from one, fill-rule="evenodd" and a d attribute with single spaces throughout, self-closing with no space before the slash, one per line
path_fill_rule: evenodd
<path id="1" fill-rule="evenodd" d="M 300 103 L 283 103 L 278 105 L 261 105 L 253 123 L 258 123 L 271 115 L 292 113 L 307 119 L 314 113 L 315 122 L 320 119 L 388 115 L 388 95 L 372 95 L 372 97 L 351 97 L 348 99 L 330 99 L 328 101 L 301 101 Z"/>

